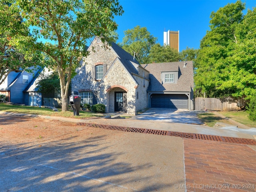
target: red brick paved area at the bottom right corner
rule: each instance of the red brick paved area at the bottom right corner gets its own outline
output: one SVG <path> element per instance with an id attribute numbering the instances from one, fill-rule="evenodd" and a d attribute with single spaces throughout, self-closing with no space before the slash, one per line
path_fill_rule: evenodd
<path id="1" fill-rule="evenodd" d="M 256 192 L 256 151 L 244 144 L 184 139 L 187 192 Z"/>

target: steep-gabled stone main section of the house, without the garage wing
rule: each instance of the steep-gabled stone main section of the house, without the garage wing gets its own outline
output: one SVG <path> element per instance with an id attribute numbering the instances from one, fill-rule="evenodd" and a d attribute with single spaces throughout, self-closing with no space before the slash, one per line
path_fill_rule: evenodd
<path id="1" fill-rule="evenodd" d="M 79 94 L 82 104 L 106 105 L 106 112 L 136 114 L 148 106 L 149 72 L 117 44 L 102 45 L 95 38 L 89 46 L 90 55 L 72 78 L 72 94 Z"/>

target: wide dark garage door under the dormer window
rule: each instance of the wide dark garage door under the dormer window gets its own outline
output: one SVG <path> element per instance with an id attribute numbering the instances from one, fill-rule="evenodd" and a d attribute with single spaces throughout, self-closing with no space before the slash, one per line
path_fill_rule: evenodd
<path id="1" fill-rule="evenodd" d="M 152 94 L 151 107 L 188 109 L 188 96 L 180 94 Z"/>

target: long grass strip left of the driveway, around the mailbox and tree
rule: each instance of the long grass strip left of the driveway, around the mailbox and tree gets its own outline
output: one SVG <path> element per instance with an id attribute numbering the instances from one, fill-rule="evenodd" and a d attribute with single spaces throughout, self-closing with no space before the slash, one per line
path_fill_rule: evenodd
<path id="1" fill-rule="evenodd" d="M 46 116 L 61 116 L 61 117 L 68 117 L 68 118 L 91 118 L 91 117 L 98 117 L 102 116 L 101 114 L 92 114 L 91 112 L 81 111 L 79 112 L 79 116 L 74 116 L 72 110 L 67 112 L 62 112 L 61 110 L 52 111 L 48 108 L 42 108 L 38 106 L 17 106 L 17 105 L 6 105 L 5 103 L 0 103 L 0 111 L 4 112 L 13 112 L 13 113 L 24 113 L 24 114 L 36 114 L 36 115 L 46 115 Z"/>

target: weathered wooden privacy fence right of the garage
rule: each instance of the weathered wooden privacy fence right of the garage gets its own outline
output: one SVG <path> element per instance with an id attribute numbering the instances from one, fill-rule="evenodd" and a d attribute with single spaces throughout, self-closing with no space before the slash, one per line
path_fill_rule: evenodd
<path id="1" fill-rule="evenodd" d="M 244 100 L 234 100 L 232 98 L 195 98 L 195 110 L 214 110 L 214 111 L 234 111 L 244 108 Z"/>

